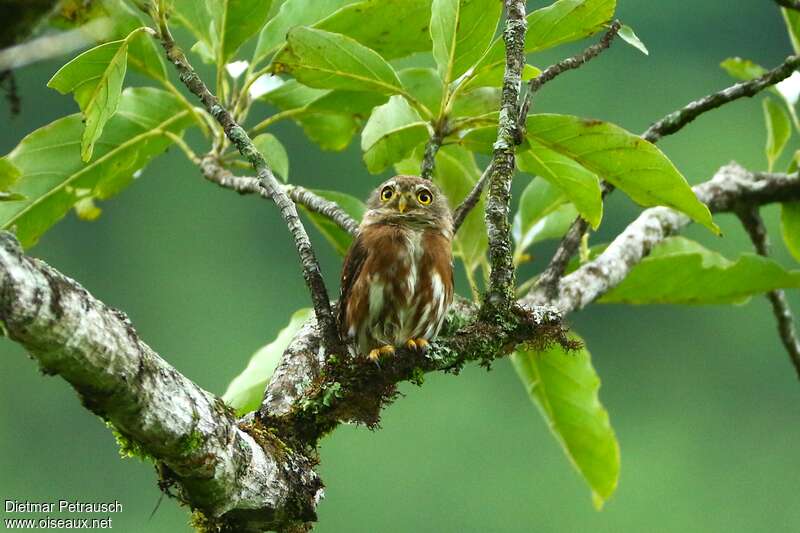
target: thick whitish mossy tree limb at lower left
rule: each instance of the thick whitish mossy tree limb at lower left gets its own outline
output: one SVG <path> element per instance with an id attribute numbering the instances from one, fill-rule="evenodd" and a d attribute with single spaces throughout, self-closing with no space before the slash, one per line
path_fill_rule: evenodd
<path id="1" fill-rule="evenodd" d="M 209 519 L 236 531 L 314 519 L 322 485 L 308 459 L 238 425 L 221 400 L 139 339 L 123 313 L 23 255 L 7 232 L 0 233 L 0 323 L 44 372 L 67 380 L 87 409 L 154 457 L 164 481 Z"/>

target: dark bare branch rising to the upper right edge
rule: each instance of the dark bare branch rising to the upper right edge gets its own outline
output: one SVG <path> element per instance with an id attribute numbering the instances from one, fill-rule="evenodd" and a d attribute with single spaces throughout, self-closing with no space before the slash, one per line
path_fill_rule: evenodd
<path id="1" fill-rule="evenodd" d="M 652 143 L 657 142 L 661 137 L 679 131 L 706 111 L 711 111 L 745 96 L 755 96 L 764 89 L 785 80 L 792 75 L 798 66 L 800 66 L 800 56 L 789 56 L 783 63 L 761 77 L 737 83 L 719 92 L 690 102 L 677 111 L 673 111 L 650 126 L 642 134 L 642 138 Z"/>

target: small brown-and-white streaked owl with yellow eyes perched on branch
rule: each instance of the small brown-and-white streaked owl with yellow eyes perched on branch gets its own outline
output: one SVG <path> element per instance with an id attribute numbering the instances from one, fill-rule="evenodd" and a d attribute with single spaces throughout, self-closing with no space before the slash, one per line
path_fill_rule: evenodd
<path id="1" fill-rule="evenodd" d="M 375 189 L 342 270 L 339 327 L 373 361 L 428 349 L 453 301 L 453 219 L 436 185 L 395 176 Z"/>

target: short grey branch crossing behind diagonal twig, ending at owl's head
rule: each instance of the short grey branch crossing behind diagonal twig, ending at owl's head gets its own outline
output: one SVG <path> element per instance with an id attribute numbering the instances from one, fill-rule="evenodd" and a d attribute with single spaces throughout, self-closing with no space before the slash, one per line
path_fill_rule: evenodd
<path id="1" fill-rule="evenodd" d="M 270 199 L 269 194 L 259 184 L 256 178 L 235 176 L 222 168 L 213 155 L 206 155 L 200 162 L 200 169 L 208 181 L 220 187 L 231 189 L 239 194 L 257 194 L 262 198 Z M 327 200 L 306 188 L 297 185 L 284 186 L 289 198 L 309 211 L 328 217 L 331 222 L 342 228 L 350 235 L 358 233 L 358 221 L 339 207 L 336 202 Z"/>

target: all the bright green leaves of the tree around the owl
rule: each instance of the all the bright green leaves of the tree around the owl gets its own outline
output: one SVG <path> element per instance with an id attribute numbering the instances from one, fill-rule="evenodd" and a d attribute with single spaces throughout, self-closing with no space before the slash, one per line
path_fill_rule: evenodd
<path id="1" fill-rule="evenodd" d="M 433 179 L 453 208 L 480 179 L 479 161 L 497 138 L 505 66 L 498 0 L 157 1 L 169 7 L 170 22 L 191 36 L 182 44 L 216 70 L 215 93 L 246 121 L 255 146 L 286 187 L 301 185 L 303 177 L 290 176 L 292 155 L 265 130 L 289 119 L 323 150 L 345 150 L 359 134 L 365 170 L 372 174 L 391 167 L 416 174 L 426 147 L 440 142 Z M 83 219 L 98 218 L 95 201 L 122 192 L 169 146 L 176 144 L 194 160 L 183 140 L 191 128 L 211 130 L 214 140 L 206 139 L 204 150 L 221 164 L 232 169 L 242 162 L 215 122 L 176 88 L 155 39 L 157 27 L 137 9 L 142 3 L 103 0 L 87 15 L 108 17 L 111 35 L 68 61 L 48 84 L 72 93 L 80 113 L 28 134 L 0 158 L 0 226 L 13 229 L 24 246 L 34 245 L 73 208 Z M 536 63 L 538 52 L 603 31 L 615 9 L 615 0 L 557 0 L 533 11 L 527 17 L 526 61 Z M 784 10 L 784 16 L 797 51 L 797 13 Z M 623 26 L 620 36 L 647 53 L 630 27 Z M 124 88 L 129 66 L 158 88 Z M 740 79 L 765 72 L 740 58 L 726 60 L 723 68 Z M 540 72 L 528 63 L 523 77 Z M 778 85 L 772 92 L 763 101 L 770 170 L 800 126 L 795 112 L 800 89 Z M 601 181 L 641 206 L 668 206 L 719 232 L 667 155 L 610 122 L 530 115 L 517 156 L 525 187 L 512 228 L 515 265 L 529 260 L 539 242 L 563 236 L 576 216 L 597 229 L 604 209 Z M 364 204 L 336 186 L 315 192 L 360 219 Z M 317 213 L 302 212 L 345 253 L 350 235 Z M 781 220 L 786 244 L 800 260 L 798 204 L 785 204 Z M 476 297 L 475 272 L 487 264 L 486 233 L 481 200 L 454 241 Z M 602 301 L 742 303 L 754 294 L 798 285 L 800 272 L 774 261 L 748 254 L 729 261 L 693 241 L 672 238 Z M 252 357 L 225 393 L 228 403 L 241 413 L 258 406 L 279 357 L 309 316 L 307 309 L 295 313 Z M 513 361 L 602 504 L 617 484 L 619 449 L 597 397 L 599 378 L 588 351 L 520 348 Z"/>

